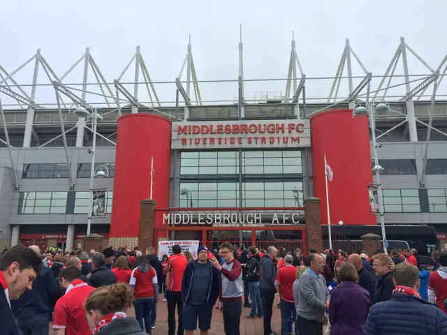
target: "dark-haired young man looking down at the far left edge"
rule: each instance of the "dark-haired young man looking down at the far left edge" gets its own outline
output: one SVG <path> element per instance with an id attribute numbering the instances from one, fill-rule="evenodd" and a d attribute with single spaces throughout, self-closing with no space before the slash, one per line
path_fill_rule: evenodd
<path id="1" fill-rule="evenodd" d="M 31 290 L 42 271 L 42 260 L 26 246 L 13 246 L 0 258 L 0 335 L 20 334 L 11 311 L 11 300 Z"/>

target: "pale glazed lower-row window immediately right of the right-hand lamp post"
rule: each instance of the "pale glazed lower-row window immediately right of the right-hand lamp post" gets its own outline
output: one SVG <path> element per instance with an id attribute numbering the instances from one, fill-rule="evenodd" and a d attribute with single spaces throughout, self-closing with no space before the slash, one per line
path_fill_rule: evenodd
<path id="1" fill-rule="evenodd" d="M 383 190 L 385 213 L 420 213 L 419 191 Z"/>

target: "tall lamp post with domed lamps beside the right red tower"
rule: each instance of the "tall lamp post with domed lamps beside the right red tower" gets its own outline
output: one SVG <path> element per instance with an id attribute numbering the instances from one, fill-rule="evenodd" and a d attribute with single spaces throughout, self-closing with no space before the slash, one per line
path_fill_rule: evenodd
<path id="1" fill-rule="evenodd" d="M 367 108 L 366 108 L 367 107 Z M 383 242 L 383 251 L 387 253 L 386 250 L 386 234 L 385 234 L 385 216 L 383 209 L 383 195 L 382 195 L 382 186 L 380 184 L 380 172 L 383 168 L 379 165 L 379 158 L 377 158 L 377 147 L 379 144 L 376 142 L 376 118 L 375 113 L 379 112 L 388 112 L 390 110 L 390 106 L 386 101 L 380 100 L 379 102 L 374 101 L 373 103 L 367 103 L 366 107 L 359 105 L 353 110 L 353 115 L 355 116 L 365 116 L 369 117 L 369 125 L 371 126 L 371 135 L 372 135 L 372 155 L 374 159 L 374 168 L 372 171 L 376 175 L 376 186 L 377 186 L 377 200 L 379 200 L 379 216 L 380 216 L 380 225 L 382 230 L 382 242 Z"/>

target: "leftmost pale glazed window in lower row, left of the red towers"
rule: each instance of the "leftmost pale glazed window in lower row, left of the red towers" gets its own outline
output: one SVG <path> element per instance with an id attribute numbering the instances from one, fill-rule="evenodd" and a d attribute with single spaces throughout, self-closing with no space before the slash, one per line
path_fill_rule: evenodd
<path id="1" fill-rule="evenodd" d="M 18 214 L 65 214 L 68 192 L 20 192 Z"/>

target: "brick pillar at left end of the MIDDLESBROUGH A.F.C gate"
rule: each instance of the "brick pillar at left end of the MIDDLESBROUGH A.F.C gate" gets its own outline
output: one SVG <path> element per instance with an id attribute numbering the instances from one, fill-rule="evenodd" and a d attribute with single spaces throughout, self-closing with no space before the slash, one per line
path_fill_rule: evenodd
<path id="1" fill-rule="evenodd" d="M 155 207 L 156 202 L 152 199 L 140 200 L 138 250 L 142 253 L 145 253 L 147 247 L 154 246 Z"/>

